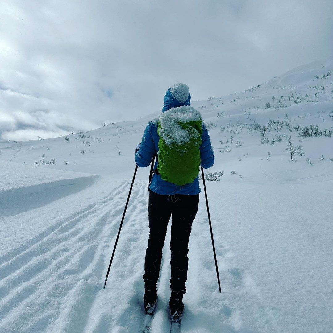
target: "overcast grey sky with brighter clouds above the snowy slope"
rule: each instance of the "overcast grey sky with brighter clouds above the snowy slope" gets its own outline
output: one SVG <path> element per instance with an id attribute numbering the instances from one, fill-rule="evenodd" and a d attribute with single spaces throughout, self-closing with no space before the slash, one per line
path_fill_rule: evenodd
<path id="1" fill-rule="evenodd" d="M 244 91 L 333 54 L 333 1 L 2 0 L 0 136 L 49 138 Z"/>

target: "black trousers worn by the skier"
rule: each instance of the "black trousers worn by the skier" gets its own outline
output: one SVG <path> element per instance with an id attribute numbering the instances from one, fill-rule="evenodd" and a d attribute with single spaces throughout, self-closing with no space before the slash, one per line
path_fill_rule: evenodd
<path id="1" fill-rule="evenodd" d="M 149 240 L 146 250 L 145 274 L 146 286 L 156 286 L 162 259 L 162 248 L 168 222 L 171 224 L 171 279 L 170 288 L 178 294 L 186 292 L 188 268 L 188 241 L 192 222 L 198 211 L 199 194 L 162 195 L 149 191 Z"/>

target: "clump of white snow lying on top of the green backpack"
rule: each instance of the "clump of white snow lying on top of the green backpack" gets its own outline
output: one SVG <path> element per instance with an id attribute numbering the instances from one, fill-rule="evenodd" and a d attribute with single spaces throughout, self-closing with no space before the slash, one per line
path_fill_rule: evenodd
<path id="1" fill-rule="evenodd" d="M 198 131 L 191 128 L 184 129 L 181 124 L 189 122 L 201 121 L 200 113 L 191 106 L 180 106 L 171 108 L 159 117 L 161 128 L 159 130 L 160 137 L 167 146 L 177 143 L 184 145 L 190 142 L 191 138 L 198 137 Z"/>

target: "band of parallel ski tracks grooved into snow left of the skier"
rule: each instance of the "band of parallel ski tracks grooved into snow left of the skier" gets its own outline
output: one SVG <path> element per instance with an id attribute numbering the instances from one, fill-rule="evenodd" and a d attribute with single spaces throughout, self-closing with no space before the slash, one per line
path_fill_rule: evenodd
<path id="1" fill-rule="evenodd" d="M 18 319 L 24 323 L 20 332 L 40 328 L 47 332 L 83 331 L 90 303 L 102 287 L 105 259 L 111 256 L 123 213 L 125 200 L 120 194 L 128 188 L 125 181 L 99 203 L 89 204 L 77 216 L 59 221 L 55 229 L 4 256 L 7 261 L 0 265 L 0 331 L 14 332 Z M 128 207 L 129 216 L 147 209 L 145 201 L 140 204 L 146 190 L 146 182 L 133 187 L 137 203 Z M 123 234 L 128 227 L 125 217 Z M 109 284 L 111 279 L 112 272 Z M 67 318 L 77 308 L 80 315 Z"/>

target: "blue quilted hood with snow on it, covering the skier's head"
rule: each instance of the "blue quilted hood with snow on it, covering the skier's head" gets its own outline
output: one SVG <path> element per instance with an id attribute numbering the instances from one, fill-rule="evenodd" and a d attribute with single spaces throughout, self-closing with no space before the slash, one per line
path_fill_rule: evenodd
<path id="1" fill-rule="evenodd" d="M 162 112 L 179 106 L 190 105 L 191 94 L 188 86 L 184 83 L 176 83 L 171 86 L 164 96 Z"/>

